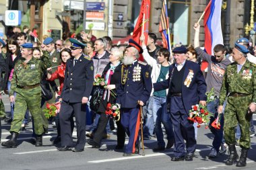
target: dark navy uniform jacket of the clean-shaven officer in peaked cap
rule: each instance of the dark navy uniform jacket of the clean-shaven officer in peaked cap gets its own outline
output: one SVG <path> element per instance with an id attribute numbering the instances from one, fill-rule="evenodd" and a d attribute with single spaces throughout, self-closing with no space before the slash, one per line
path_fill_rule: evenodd
<path id="1" fill-rule="evenodd" d="M 67 60 L 61 98 L 70 103 L 77 103 L 82 102 L 82 97 L 90 96 L 94 83 L 94 63 L 82 55 L 73 67 L 73 60 L 74 58 Z"/>

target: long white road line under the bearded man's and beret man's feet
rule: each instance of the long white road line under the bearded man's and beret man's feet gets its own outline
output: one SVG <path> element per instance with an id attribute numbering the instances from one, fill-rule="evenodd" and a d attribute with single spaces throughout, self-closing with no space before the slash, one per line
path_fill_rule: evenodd
<path id="1" fill-rule="evenodd" d="M 195 152 L 201 152 L 201 151 L 208 151 L 211 148 L 201 148 L 201 149 L 196 149 Z M 113 158 L 113 159 L 101 159 L 101 160 L 96 160 L 96 161 L 88 161 L 88 163 L 106 163 L 106 162 L 113 162 L 113 161 L 123 161 L 123 160 L 128 160 L 128 159 L 139 159 L 139 158 L 146 158 L 146 157 L 158 157 L 162 155 L 171 155 L 173 152 L 168 152 L 168 153 L 153 153 L 150 155 L 138 155 L 138 156 L 133 156 L 133 157 L 119 157 L 119 158 Z"/>

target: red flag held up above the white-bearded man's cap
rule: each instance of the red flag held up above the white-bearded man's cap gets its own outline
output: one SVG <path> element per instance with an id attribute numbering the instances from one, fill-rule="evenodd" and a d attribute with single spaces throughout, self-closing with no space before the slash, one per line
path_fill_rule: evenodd
<path id="1" fill-rule="evenodd" d="M 137 42 L 139 45 L 141 45 L 139 37 L 142 35 L 143 14 L 145 14 L 143 34 L 145 36 L 145 44 L 147 44 L 148 30 L 150 28 L 150 0 L 142 0 L 139 11 L 139 17 L 137 19 L 136 26 L 133 30 L 133 40 L 135 40 L 135 42 Z"/>

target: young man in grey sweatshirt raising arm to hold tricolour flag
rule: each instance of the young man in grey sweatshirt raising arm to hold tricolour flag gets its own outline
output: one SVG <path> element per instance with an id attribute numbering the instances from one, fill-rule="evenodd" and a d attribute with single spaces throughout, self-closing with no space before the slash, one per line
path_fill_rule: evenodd
<path id="1" fill-rule="evenodd" d="M 201 50 L 199 46 L 199 30 L 200 25 L 195 24 L 195 38 L 194 38 L 194 48 L 197 52 L 198 56 L 208 62 L 208 73 L 206 76 L 206 84 L 207 84 L 207 92 L 210 92 L 212 88 L 214 88 L 214 95 L 212 95 L 213 101 L 207 103 L 207 109 L 214 114 L 214 118 L 211 117 L 210 120 L 210 130 L 214 134 L 214 140 L 212 142 L 212 149 L 208 157 L 215 158 L 217 157 L 218 153 L 224 154 L 226 152 L 226 148 L 224 143 L 222 143 L 223 137 L 223 126 L 224 126 L 224 119 L 223 114 L 221 114 L 220 124 L 221 128 L 219 130 L 213 128 L 211 126 L 212 122 L 218 116 L 218 105 L 220 103 L 220 88 L 222 86 L 222 80 L 224 73 L 226 71 L 226 67 L 231 63 L 228 58 L 225 57 L 226 48 L 222 44 L 217 44 L 214 46 L 214 56 L 207 54 L 205 51 Z M 220 146 L 222 146 L 222 151 L 219 151 Z"/>

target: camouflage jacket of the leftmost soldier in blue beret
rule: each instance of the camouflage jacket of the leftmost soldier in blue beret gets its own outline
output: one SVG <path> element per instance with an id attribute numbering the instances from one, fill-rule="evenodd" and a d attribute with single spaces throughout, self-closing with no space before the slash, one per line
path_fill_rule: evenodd
<path id="1" fill-rule="evenodd" d="M 49 52 L 44 51 L 43 53 L 40 59 L 32 57 L 28 63 L 24 64 L 24 58 L 22 58 L 22 60 L 15 64 L 9 95 L 13 95 L 13 92 L 18 87 L 32 86 L 40 83 L 43 71 L 51 67 Z"/>

